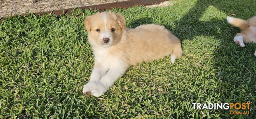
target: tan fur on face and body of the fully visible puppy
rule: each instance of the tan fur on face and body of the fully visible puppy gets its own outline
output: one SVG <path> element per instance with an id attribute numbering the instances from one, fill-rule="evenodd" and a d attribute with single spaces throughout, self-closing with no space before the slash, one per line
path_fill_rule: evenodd
<path id="1" fill-rule="evenodd" d="M 108 16 L 113 14 L 115 13 L 108 12 Z M 116 42 L 111 45 L 111 48 L 108 51 L 109 55 L 121 57 L 122 60 L 128 65 L 136 65 L 140 62 L 160 59 L 170 54 L 173 54 L 176 57 L 180 57 L 182 55 L 180 40 L 176 36 L 172 35 L 170 31 L 165 29 L 164 26 L 147 24 L 140 25 L 135 29 L 122 29 L 123 25 L 125 24 L 124 17 L 120 15 L 118 16 L 120 17 L 119 20 L 121 21 L 117 21 L 118 23 L 121 22 L 122 25 L 116 29 L 116 31 L 120 31 L 120 34 L 117 33 L 114 35 L 121 35 L 122 39 L 118 39 L 119 37 L 115 39 Z M 94 17 L 93 20 L 90 21 L 90 25 L 93 27 L 93 29 L 104 26 L 102 25 L 102 21 L 100 19 L 102 17 L 102 13 L 97 13 L 89 18 L 91 17 Z M 108 18 L 108 23 L 117 25 L 112 18 Z M 97 39 L 97 33 L 95 31 L 92 31 L 93 33 L 91 33 L 88 29 L 87 31 L 89 32 L 90 42 L 92 42 L 91 40 L 95 41 L 95 39 Z M 94 43 L 91 43 L 91 45 L 92 49 L 96 52 L 98 45 Z"/>

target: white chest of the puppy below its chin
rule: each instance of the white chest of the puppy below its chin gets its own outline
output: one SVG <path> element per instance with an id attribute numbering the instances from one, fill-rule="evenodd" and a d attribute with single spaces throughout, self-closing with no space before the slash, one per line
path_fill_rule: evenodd
<path id="1" fill-rule="evenodd" d="M 118 58 L 114 57 L 108 51 L 96 51 L 94 52 L 94 55 L 95 60 L 100 62 L 100 64 L 106 69 L 109 69 L 110 66 L 115 65 L 118 62 Z"/>

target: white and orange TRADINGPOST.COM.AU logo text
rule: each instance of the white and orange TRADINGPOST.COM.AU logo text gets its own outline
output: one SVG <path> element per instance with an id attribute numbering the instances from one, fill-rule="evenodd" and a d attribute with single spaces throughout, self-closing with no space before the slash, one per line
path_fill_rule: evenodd
<path id="1" fill-rule="evenodd" d="M 251 103 L 192 103 L 194 109 L 225 109 L 230 115 L 249 115 Z"/>

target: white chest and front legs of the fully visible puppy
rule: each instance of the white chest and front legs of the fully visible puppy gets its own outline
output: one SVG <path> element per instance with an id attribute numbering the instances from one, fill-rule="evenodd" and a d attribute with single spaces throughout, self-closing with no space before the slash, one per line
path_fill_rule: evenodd
<path id="1" fill-rule="evenodd" d="M 90 82 L 84 85 L 83 93 L 91 92 L 93 96 L 99 97 L 111 87 L 115 80 L 122 76 L 128 66 L 124 65 L 118 57 L 113 57 L 106 48 L 97 48 L 94 52 L 95 63 L 100 63 L 100 68 L 94 68 Z M 104 60 L 102 60 L 104 59 Z"/>

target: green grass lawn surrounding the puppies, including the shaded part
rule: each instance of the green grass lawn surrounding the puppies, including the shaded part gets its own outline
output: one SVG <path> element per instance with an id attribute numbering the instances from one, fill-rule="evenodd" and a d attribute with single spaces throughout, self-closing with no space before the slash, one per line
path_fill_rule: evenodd
<path id="1" fill-rule="evenodd" d="M 163 8 L 113 11 L 125 16 L 127 27 L 166 26 L 182 40 L 182 58 L 132 66 L 100 98 L 82 94 L 94 63 L 83 20 L 94 11 L 2 22 L 0 118 L 255 119 L 256 45 L 236 45 L 239 29 L 225 19 L 255 16 L 255 0 L 170 2 Z M 230 110 L 194 110 L 195 102 L 252 104 L 249 115 L 230 115 Z"/>

